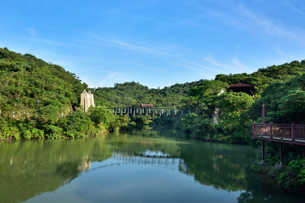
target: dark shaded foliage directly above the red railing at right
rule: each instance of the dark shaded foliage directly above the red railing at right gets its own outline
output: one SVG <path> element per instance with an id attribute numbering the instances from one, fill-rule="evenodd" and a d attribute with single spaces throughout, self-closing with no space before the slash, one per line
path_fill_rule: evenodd
<path id="1" fill-rule="evenodd" d="M 271 83 L 261 93 L 261 98 L 251 107 L 252 120 L 261 117 L 261 106 L 265 105 L 265 122 L 302 123 L 305 118 L 305 74 L 287 82 Z"/>

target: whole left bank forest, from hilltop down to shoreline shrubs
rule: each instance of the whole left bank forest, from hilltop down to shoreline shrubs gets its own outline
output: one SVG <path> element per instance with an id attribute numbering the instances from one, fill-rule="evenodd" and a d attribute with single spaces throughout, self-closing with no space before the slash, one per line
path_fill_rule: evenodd
<path id="1" fill-rule="evenodd" d="M 104 108 L 84 113 L 80 93 L 87 85 L 31 54 L 0 49 L 0 86 L 0 140 L 93 136 L 126 129 L 130 120 Z"/>

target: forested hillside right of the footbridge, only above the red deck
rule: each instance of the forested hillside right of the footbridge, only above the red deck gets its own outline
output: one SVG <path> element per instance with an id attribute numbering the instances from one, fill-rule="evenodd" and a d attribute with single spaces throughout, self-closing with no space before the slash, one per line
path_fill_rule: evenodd
<path id="1" fill-rule="evenodd" d="M 280 123 L 284 116 L 288 122 L 302 123 L 304 73 L 305 60 L 302 60 L 272 65 L 252 74 L 217 75 L 215 80 L 203 81 L 191 88 L 189 95 L 181 100 L 182 107 L 206 114 L 186 116 L 177 127 L 204 139 L 247 142 L 251 131 L 249 124 L 261 117 L 262 104 L 266 105 L 269 122 Z M 255 85 L 254 96 L 230 91 L 229 85 L 237 83 Z M 221 89 L 225 93 L 218 95 Z M 216 107 L 221 111 L 218 125 L 211 121 Z"/>

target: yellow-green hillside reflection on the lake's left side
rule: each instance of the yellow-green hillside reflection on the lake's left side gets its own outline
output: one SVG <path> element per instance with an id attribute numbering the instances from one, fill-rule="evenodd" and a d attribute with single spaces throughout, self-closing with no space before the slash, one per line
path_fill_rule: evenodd
<path id="1" fill-rule="evenodd" d="M 19 202 L 54 191 L 112 151 L 103 138 L 0 142 L 0 196 Z"/>

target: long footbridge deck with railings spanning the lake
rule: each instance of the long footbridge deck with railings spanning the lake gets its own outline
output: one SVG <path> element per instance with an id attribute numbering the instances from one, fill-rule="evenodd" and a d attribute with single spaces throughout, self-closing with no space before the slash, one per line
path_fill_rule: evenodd
<path id="1" fill-rule="evenodd" d="M 106 108 L 115 115 L 156 115 L 156 116 L 184 116 L 185 114 L 203 114 L 197 110 L 190 109 L 169 109 L 169 108 L 137 108 L 137 107 L 116 107 Z"/>

